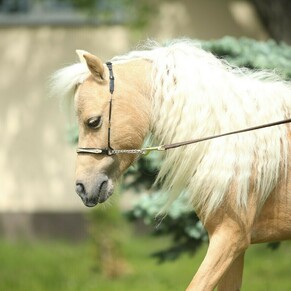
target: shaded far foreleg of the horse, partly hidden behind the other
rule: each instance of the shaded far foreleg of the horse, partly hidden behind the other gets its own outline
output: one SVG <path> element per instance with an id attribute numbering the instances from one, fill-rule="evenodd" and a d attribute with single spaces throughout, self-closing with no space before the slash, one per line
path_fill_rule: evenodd
<path id="1" fill-rule="evenodd" d="M 242 284 L 244 252 L 232 263 L 226 274 L 218 283 L 217 291 L 238 291 Z"/>

